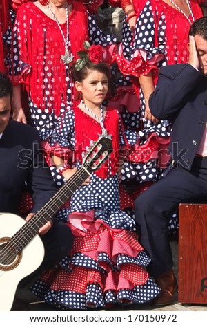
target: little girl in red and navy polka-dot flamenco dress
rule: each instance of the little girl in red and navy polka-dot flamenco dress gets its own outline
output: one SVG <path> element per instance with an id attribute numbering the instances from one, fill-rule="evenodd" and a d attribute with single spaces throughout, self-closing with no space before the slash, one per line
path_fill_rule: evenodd
<path id="1" fill-rule="evenodd" d="M 101 134 L 112 138 L 113 153 L 72 195 L 68 226 L 75 241 L 70 254 L 59 266 L 47 270 L 32 288 L 41 299 L 63 310 L 140 304 L 159 293 L 145 270 L 150 259 L 137 240 L 135 221 L 120 210 L 119 154 L 127 144 L 119 113 L 102 105 L 110 68 L 101 62 L 101 48 L 95 48 L 94 59 L 91 48 L 72 67 L 82 100 L 64 113 L 50 145 L 72 150 L 77 167 Z M 64 166 L 61 154 L 53 154 L 52 159 L 61 177 L 68 179 L 77 170 Z"/>

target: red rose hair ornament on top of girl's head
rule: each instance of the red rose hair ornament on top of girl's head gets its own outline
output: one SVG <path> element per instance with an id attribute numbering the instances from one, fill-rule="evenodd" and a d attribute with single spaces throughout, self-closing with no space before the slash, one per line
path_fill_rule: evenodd
<path id="1" fill-rule="evenodd" d="M 77 59 L 77 62 L 75 62 L 76 71 L 84 68 L 88 60 L 94 63 L 103 62 L 104 50 L 101 45 L 93 44 L 90 46 L 90 43 L 88 43 L 88 41 L 84 41 L 83 48 L 85 48 L 85 50 L 79 50 L 79 52 L 77 52 L 79 59 Z"/>

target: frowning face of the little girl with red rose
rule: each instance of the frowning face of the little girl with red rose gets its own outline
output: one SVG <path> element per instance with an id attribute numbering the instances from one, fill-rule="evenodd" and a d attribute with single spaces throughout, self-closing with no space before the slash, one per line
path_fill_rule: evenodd
<path id="1" fill-rule="evenodd" d="M 108 77 L 96 70 L 89 70 L 82 82 L 75 82 L 77 91 L 83 94 L 86 106 L 100 106 L 108 93 Z M 88 103 L 88 104 L 87 104 Z"/>

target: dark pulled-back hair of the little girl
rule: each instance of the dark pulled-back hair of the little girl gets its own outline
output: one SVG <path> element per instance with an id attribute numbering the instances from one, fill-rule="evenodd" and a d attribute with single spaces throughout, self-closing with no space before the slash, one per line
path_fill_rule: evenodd
<path id="1" fill-rule="evenodd" d="M 104 73 L 108 78 L 108 97 L 113 97 L 115 95 L 115 89 L 112 84 L 112 78 L 110 73 L 110 66 L 105 62 L 95 63 L 90 60 L 86 63 L 86 65 L 79 71 L 75 70 L 75 64 L 70 67 L 70 75 L 72 80 L 75 82 L 83 82 L 83 80 L 88 76 L 89 71 L 96 70 L 101 73 Z"/>

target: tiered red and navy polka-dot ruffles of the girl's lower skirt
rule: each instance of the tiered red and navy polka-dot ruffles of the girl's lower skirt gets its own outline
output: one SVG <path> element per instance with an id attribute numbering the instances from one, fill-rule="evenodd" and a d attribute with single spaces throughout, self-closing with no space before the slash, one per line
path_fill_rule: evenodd
<path id="1" fill-rule="evenodd" d="M 44 272 L 32 292 L 62 310 L 141 304 L 160 292 L 145 270 L 148 263 L 135 232 L 97 220 L 75 236 L 68 257 Z"/>

